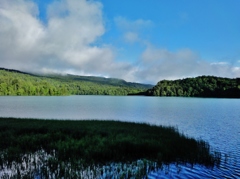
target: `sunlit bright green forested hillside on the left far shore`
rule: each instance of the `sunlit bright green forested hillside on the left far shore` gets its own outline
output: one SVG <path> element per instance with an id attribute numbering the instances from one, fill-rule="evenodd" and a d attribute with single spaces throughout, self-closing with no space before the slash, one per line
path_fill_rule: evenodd
<path id="1" fill-rule="evenodd" d="M 77 75 L 39 75 L 0 68 L 0 95 L 129 95 L 153 85 Z"/>

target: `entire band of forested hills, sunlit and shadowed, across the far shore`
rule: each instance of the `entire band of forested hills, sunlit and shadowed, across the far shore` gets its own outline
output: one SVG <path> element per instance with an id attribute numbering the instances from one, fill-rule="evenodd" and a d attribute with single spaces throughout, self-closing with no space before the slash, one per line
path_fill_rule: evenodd
<path id="1" fill-rule="evenodd" d="M 240 78 L 199 76 L 162 80 L 156 86 L 116 78 L 37 75 L 0 68 L 0 96 L 145 95 L 240 98 Z"/>

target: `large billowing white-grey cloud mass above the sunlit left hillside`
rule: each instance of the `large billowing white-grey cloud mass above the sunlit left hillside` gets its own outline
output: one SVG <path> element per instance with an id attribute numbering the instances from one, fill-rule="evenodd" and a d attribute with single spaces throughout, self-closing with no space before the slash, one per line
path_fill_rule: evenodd
<path id="1" fill-rule="evenodd" d="M 54 1 L 48 6 L 47 14 L 48 21 L 43 24 L 34 2 L 1 0 L 2 67 L 120 77 L 123 76 L 120 72 L 129 70 L 129 64 L 114 61 L 114 51 L 110 46 L 95 45 L 105 33 L 101 3 Z M 116 72 L 117 69 L 120 72 Z"/>

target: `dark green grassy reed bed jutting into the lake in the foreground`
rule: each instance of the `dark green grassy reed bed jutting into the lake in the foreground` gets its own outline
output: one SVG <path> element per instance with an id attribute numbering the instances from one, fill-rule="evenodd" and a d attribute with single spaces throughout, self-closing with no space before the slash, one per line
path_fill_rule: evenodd
<path id="1" fill-rule="evenodd" d="M 80 166 L 86 169 L 139 159 L 159 166 L 170 162 L 213 166 L 219 162 L 219 154 L 210 153 L 208 143 L 186 137 L 173 127 L 119 121 L 0 118 L 0 152 L 0 170 L 11 169 L 13 164 L 21 168 L 25 162 L 25 168 L 35 166 L 30 170 L 36 172 L 45 167 L 58 176 L 64 176 L 65 164 L 75 171 Z M 35 159 L 34 154 L 38 155 Z M 43 161 L 36 166 L 39 156 Z"/>

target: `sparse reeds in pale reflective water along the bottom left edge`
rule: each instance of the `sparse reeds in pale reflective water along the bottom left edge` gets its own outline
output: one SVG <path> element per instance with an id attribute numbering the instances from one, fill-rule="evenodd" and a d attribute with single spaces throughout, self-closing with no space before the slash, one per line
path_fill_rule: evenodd
<path id="1" fill-rule="evenodd" d="M 156 170 L 156 162 L 137 160 L 132 163 L 109 163 L 84 166 L 78 162 L 59 162 L 44 150 L 25 154 L 21 162 L 2 163 L 1 178 L 144 178 Z"/>

